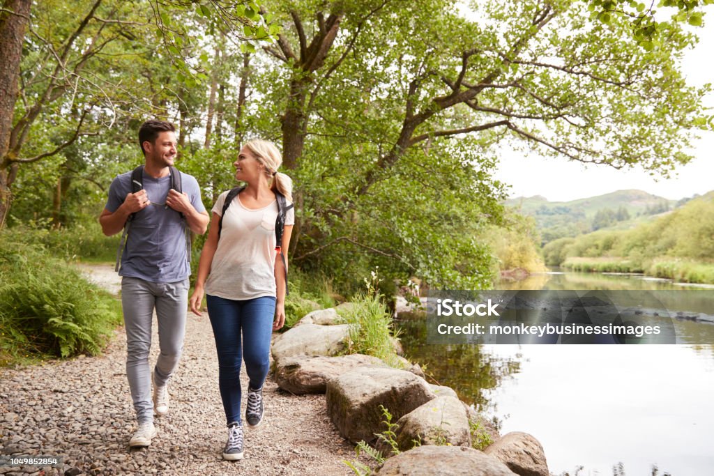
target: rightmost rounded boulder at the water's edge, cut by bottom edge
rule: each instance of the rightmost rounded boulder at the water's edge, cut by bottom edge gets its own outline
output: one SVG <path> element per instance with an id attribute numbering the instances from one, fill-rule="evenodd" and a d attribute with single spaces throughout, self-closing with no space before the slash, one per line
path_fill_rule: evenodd
<path id="1" fill-rule="evenodd" d="M 548 464 L 540 442 L 528 433 L 511 432 L 485 450 L 520 476 L 548 476 Z"/>

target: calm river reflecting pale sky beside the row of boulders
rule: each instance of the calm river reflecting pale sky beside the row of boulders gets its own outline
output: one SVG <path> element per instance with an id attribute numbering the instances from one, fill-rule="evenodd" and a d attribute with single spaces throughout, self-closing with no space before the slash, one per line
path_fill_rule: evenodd
<path id="1" fill-rule="evenodd" d="M 499 288 L 653 290 L 670 310 L 714 313 L 712 287 L 638 275 L 543 273 Z M 714 324 L 675 320 L 676 345 L 428 345 L 423 318 L 400 318 L 408 357 L 502 434 L 534 435 L 556 475 L 714 473 Z"/>

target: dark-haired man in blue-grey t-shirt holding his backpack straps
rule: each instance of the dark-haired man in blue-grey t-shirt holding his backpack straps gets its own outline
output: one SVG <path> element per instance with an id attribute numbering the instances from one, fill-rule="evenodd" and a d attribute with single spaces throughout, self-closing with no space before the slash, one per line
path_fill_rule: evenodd
<path id="1" fill-rule="evenodd" d="M 183 349 L 188 304 L 188 262 L 185 226 L 203 234 L 208 213 L 198 182 L 180 173 L 181 191 L 172 188 L 176 129 L 164 121 L 146 121 L 139 129 L 145 165 L 132 193 L 131 171 L 114 178 L 109 200 L 99 217 L 106 236 L 119 233 L 131 218 L 121 256 L 121 307 L 126 328 L 126 376 L 139 428 L 129 446 L 149 446 L 156 436 L 154 412 L 169 410 L 168 383 Z M 173 169 L 176 171 L 176 169 Z M 190 244 L 189 244 L 190 245 Z M 159 322 L 160 354 L 149 368 L 154 308 Z M 153 402 L 151 383 L 154 383 Z"/>

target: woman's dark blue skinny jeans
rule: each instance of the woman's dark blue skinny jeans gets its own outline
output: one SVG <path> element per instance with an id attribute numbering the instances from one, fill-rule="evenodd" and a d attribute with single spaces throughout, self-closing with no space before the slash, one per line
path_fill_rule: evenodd
<path id="1" fill-rule="evenodd" d="M 206 295 L 208 318 L 218 352 L 218 388 L 226 422 L 241 422 L 241 360 L 246 360 L 248 386 L 263 388 L 270 367 L 275 298 L 231 300 Z"/>

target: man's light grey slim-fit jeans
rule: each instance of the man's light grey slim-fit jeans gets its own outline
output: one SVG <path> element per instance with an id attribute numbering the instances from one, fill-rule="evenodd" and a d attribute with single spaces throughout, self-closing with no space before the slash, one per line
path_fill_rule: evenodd
<path id="1" fill-rule="evenodd" d="M 159 358 L 156 383 L 166 385 L 183 350 L 188 312 L 188 278 L 176 283 L 150 283 L 139 278 L 121 279 L 121 308 L 126 329 L 126 377 L 139 423 L 154 420 L 151 400 L 151 325 L 154 308 L 159 322 Z"/>

